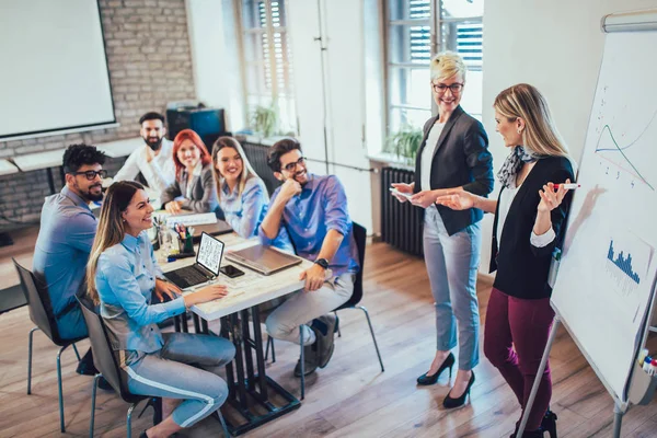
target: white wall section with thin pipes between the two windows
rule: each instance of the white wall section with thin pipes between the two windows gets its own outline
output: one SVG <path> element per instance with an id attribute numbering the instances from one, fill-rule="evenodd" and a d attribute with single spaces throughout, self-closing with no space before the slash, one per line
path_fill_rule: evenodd
<path id="1" fill-rule="evenodd" d="M 289 0 L 288 18 L 303 153 L 314 160 L 327 155 L 332 163 L 368 169 L 362 2 Z M 309 168 L 318 174 L 326 173 L 324 163 L 311 162 Z M 369 173 L 339 165 L 330 165 L 328 172 L 345 186 L 351 219 L 371 232 Z"/>

